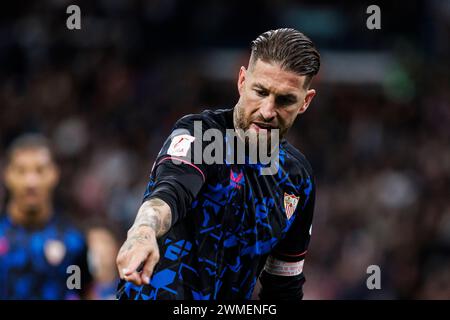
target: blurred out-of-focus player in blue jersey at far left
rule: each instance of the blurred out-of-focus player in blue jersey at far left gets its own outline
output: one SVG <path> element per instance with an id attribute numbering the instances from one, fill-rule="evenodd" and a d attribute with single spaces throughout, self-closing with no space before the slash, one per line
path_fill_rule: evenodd
<path id="1" fill-rule="evenodd" d="M 0 217 L 0 299 L 78 299 L 88 290 L 85 239 L 53 206 L 58 180 L 44 137 L 13 141 L 4 170 L 9 200 Z"/>

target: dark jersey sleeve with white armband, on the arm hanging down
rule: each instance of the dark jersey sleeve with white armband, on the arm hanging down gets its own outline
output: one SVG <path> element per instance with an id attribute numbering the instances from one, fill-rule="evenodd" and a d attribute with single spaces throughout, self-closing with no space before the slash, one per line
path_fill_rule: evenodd
<path id="1" fill-rule="evenodd" d="M 285 238 L 272 250 L 260 276 L 261 300 L 300 300 L 303 298 L 304 259 L 311 237 L 315 186 L 307 179 L 303 203 Z"/>

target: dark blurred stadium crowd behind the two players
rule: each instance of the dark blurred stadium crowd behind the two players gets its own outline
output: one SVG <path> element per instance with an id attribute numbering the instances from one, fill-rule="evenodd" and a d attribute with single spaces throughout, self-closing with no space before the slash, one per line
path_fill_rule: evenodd
<path id="1" fill-rule="evenodd" d="M 44 133 L 58 204 L 120 242 L 175 120 L 232 107 L 250 41 L 295 27 L 322 53 L 289 134 L 318 187 L 305 299 L 450 299 L 450 1 L 374 3 L 371 31 L 364 1 L 2 2 L 0 162 L 17 135 Z M 382 290 L 366 287 L 372 264 Z"/>

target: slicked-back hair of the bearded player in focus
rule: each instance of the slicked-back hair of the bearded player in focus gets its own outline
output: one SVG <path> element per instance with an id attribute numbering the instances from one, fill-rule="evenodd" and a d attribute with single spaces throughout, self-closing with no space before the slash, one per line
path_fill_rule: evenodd
<path id="1" fill-rule="evenodd" d="M 252 41 L 250 64 L 258 59 L 276 62 L 281 68 L 306 75 L 305 87 L 319 72 L 320 54 L 314 43 L 303 33 L 290 28 L 269 30 Z"/>

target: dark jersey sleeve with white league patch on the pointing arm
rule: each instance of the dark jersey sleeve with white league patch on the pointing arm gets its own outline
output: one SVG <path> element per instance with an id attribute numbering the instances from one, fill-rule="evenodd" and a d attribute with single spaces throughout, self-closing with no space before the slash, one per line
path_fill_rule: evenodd
<path id="1" fill-rule="evenodd" d="M 203 120 L 200 115 L 188 115 L 177 121 L 153 164 L 144 201 L 166 202 L 172 212 L 171 226 L 186 215 L 212 171 L 202 161 L 202 136 L 207 129 Z"/>

